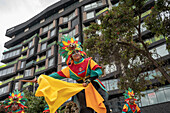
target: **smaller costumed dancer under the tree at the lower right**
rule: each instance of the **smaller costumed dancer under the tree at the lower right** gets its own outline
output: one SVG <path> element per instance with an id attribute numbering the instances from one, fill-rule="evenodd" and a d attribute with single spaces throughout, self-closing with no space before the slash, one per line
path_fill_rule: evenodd
<path id="1" fill-rule="evenodd" d="M 141 113 L 140 108 L 135 103 L 134 92 L 131 88 L 124 93 L 126 104 L 123 107 L 122 113 Z"/>

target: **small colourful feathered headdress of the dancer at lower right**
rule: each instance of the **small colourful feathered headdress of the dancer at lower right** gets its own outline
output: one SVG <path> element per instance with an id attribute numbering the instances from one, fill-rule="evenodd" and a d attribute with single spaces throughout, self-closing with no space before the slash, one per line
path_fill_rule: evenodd
<path id="1" fill-rule="evenodd" d="M 128 102 L 132 97 L 134 97 L 134 92 L 131 88 L 128 88 L 128 90 L 125 90 L 125 93 L 123 94 L 125 97 L 125 101 Z M 135 98 L 134 98 L 135 99 Z M 136 100 L 136 99 L 135 99 Z"/>

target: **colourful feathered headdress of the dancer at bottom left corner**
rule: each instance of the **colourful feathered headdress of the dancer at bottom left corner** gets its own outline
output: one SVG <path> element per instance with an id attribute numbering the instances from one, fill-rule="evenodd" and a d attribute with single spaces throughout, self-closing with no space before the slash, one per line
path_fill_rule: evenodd
<path id="1" fill-rule="evenodd" d="M 12 94 L 10 93 L 8 99 L 4 102 L 8 104 L 8 106 L 5 106 L 5 109 L 7 110 L 13 103 L 17 103 L 21 109 L 27 108 L 24 106 L 27 99 L 23 98 L 23 96 L 24 93 L 20 93 L 18 90 L 14 91 Z"/>

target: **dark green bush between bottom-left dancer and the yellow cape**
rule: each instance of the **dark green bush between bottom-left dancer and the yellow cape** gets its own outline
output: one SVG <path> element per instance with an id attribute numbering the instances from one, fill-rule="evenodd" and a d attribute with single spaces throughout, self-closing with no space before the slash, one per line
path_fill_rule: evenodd
<path id="1" fill-rule="evenodd" d="M 25 98 L 28 99 L 25 106 L 28 108 L 25 109 L 26 113 L 42 113 L 44 111 L 46 102 L 43 97 L 35 97 L 35 93 L 29 92 L 28 90 L 24 91 Z"/>

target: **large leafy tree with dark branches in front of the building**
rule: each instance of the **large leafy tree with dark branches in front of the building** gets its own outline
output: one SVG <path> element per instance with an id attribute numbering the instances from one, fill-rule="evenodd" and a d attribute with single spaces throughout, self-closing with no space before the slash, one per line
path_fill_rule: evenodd
<path id="1" fill-rule="evenodd" d="M 163 0 L 160 1 L 163 2 Z M 169 36 L 168 31 L 166 31 L 168 29 L 158 33 L 155 32 L 158 29 L 154 30 L 154 27 L 151 26 L 153 21 L 157 21 L 158 24 L 168 20 L 157 19 L 159 13 L 153 14 L 157 12 L 153 10 L 159 4 L 155 4 L 154 8 L 151 9 L 151 16 L 154 17 L 154 20 L 145 20 L 146 24 L 142 26 L 142 13 L 146 9 L 146 2 L 147 0 L 119 0 L 117 7 L 113 7 L 107 14 L 99 17 L 101 24 L 92 23 L 84 31 L 87 39 L 83 44 L 87 54 L 93 57 L 97 56 L 100 64 L 115 63 L 121 67 L 120 88 L 131 87 L 139 96 L 140 92 L 146 90 L 147 85 L 151 84 L 151 81 L 146 79 L 150 75 L 149 72 L 146 72 L 148 70 L 158 69 L 163 76 L 153 75 L 153 77 L 159 78 L 158 80 L 162 83 L 163 79 L 166 78 L 170 83 L 170 76 L 163 68 L 164 62 L 153 58 L 153 55 L 157 57 L 159 55 L 156 51 L 149 51 L 149 43 L 145 42 L 146 37 L 142 36 L 142 27 L 144 26 L 152 31 L 150 36 L 155 33 L 156 35 Z M 159 8 L 157 10 L 161 11 Z M 165 25 L 161 25 L 163 29 Z M 136 35 L 134 36 L 134 34 Z"/>

